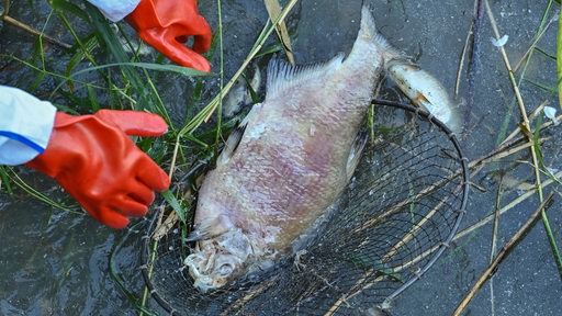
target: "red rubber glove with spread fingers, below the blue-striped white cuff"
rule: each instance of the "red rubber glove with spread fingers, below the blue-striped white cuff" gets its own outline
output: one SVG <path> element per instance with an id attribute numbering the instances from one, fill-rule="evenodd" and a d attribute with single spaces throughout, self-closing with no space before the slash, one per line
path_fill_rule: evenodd
<path id="1" fill-rule="evenodd" d="M 154 191 L 170 185 L 166 172 L 127 135 L 158 136 L 167 129 L 160 116 L 144 112 L 57 112 L 47 148 L 25 165 L 55 178 L 101 223 L 123 228 L 127 216 L 146 214 Z"/>

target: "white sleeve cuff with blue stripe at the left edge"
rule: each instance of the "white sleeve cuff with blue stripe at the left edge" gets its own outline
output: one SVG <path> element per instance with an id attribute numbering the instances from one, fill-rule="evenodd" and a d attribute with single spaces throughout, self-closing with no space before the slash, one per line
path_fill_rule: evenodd
<path id="1" fill-rule="evenodd" d="M 0 86 L 0 165 L 25 163 L 45 151 L 56 112 L 50 102 Z"/>

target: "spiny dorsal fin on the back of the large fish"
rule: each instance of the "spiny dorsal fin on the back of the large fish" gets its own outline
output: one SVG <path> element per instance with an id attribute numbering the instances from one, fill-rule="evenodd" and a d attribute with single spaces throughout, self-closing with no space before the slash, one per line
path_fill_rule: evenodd
<path id="1" fill-rule="evenodd" d="M 286 97 L 286 90 L 300 86 L 316 77 L 323 76 L 339 67 L 344 60 L 344 53 L 336 55 L 327 63 L 306 66 L 292 66 L 277 57 L 271 58 L 268 66 L 268 98 Z"/>

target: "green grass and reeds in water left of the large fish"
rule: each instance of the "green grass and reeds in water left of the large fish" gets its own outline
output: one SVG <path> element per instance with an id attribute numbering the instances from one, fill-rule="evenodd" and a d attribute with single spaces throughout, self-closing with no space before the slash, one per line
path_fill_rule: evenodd
<path id="1" fill-rule="evenodd" d="M 18 54 L 0 52 L 1 71 L 15 68 L 18 70 L 14 72 L 20 72 L 20 67 L 23 67 L 26 70 L 23 71 L 25 76 L 33 78 L 27 82 L 3 82 L 3 84 L 16 86 L 41 95 L 59 111 L 75 115 L 94 113 L 100 109 L 113 109 L 148 111 L 162 116 L 169 126 L 168 133 L 157 138 L 136 137 L 136 144 L 165 170 L 169 170 L 169 176 L 173 180 L 186 180 L 186 173 L 194 169 L 194 166 L 201 167 L 202 162 L 211 162 L 218 151 L 220 144 L 239 120 L 239 117 L 227 122 L 222 120 L 222 102 L 233 84 L 244 76 L 248 65 L 257 56 L 282 52 L 288 47 L 286 44 L 283 46 L 273 43 L 270 35 L 283 30 L 279 36 L 288 41 L 286 29 L 274 25 L 286 16 L 296 0 L 289 1 L 282 10 L 277 0 L 266 2 L 270 3 L 270 12 L 276 15 L 271 15 L 268 23 L 263 25 L 239 69 L 232 78 L 225 79 L 221 1 L 217 1 L 218 27 L 213 34 L 212 47 L 205 54 L 209 59 L 218 55 L 220 65 L 214 67 L 218 72 L 211 74 L 171 65 L 162 56 L 150 54 L 151 50 L 147 49 L 146 44 L 139 43 L 131 30 L 121 23 L 110 24 L 95 7 L 86 1 L 49 0 L 50 12 L 45 16 L 40 30 L 11 18 L 10 1 L 5 1 L 5 10 L 0 12 L 0 19 L 4 23 L 29 32 L 36 38 L 30 56 L 25 56 L 26 54 L 21 56 L 22 52 Z M 35 1 L 29 2 L 31 8 L 41 4 Z M 61 25 L 64 27 L 60 32 Z M 57 40 L 58 36 L 47 35 L 48 32 L 53 32 L 52 30 L 58 30 L 61 37 L 67 37 L 64 41 L 72 44 Z M 266 46 L 266 42 L 269 46 Z M 143 56 L 146 52 L 150 56 Z M 59 54 L 63 55 L 60 59 L 58 58 L 60 56 L 57 56 Z M 184 99 L 188 100 L 184 109 L 171 109 L 173 106 L 162 100 L 161 92 L 166 87 L 157 83 L 158 79 L 161 79 L 160 74 L 184 83 Z M 218 83 L 218 89 L 210 88 L 215 83 Z M 215 95 L 209 95 L 210 91 Z M 254 91 L 251 93 L 256 95 Z M 201 172 L 202 168 L 196 169 Z M 20 176 L 26 172 L 19 167 L 0 166 L 0 190 L 12 193 L 13 187 L 16 185 L 53 208 L 80 212 L 79 205 L 68 202 L 66 196 L 58 201 L 58 196 L 45 194 L 41 189 L 29 184 L 24 179 L 26 177 Z M 182 190 L 175 189 L 179 187 L 172 185 L 172 189 L 162 192 L 161 196 L 176 211 L 176 221 L 184 223 L 183 227 L 187 229 L 188 218 L 192 216 L 187 214 L 191 210 L 191 201 L 186 198 L 183 187 Z M 187 233 L 183 232 L 183 234 Z M 112 275 L 133 304 L 140 312 L 149 314 L 150 312 L 145 307 L 147 292 L 145 291 L 143 298 L 138 300 L 136 294 L 127 289 L 114 267 L 114 255 L 110 258 Z"/>

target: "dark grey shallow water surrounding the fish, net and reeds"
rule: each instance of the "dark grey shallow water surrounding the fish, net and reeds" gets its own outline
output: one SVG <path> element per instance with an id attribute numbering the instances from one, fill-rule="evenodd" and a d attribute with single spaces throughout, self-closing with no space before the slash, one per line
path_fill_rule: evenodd
<path id="1" fill-rule="evenodd" d="M 33 2 L 34 10 L 30 10 L 27 1 L 12 4 L 10 14 L 41 29 L 49 7 L 46 1 Z M 202 14 L 207 16 L 216 30 L 216 3 L 200 2 L 204 3 Z M 395 47 L 414 56 L 417 63 L 439 78 L 452 94 L 460 55 L 473 18 L 473 3 L 452 0 L 368 2 L 374 8 L 380 32 Z M 512 65 L 515 66 L 538 33 L 546 4 L 529 0 L 491 1 L 491 5 L 499 32 L 509 35 L 505 48 Z M 347 53 L 359 27 L 360 7 L 359 0 L 307 0 L 297 4 L 288 23 L 290 32 L 297 36 L 294 43 L 297 63 L 322 61 L 338 52 Z M 267 13 L 261 1 L 247 0 L 223 1 L 222 10 L 225 30 L 225 71 L 228 77 L 246 56 L 267 19 Z M 551 16 L 552 12 L 548 19 Z M 72 37 L 65 33 L 60 21 L 54 21 L 48 24 L 46 32 L 71 43 Z M 538 46 L 549 54 L 555 54 L 557 22 L 538 42 Z M 5 23 L 0 27 L 0 53 L 29 56 L 34 37 Z M 490 41 L 492 36 L 492 26 L 484 13 L 480 55 L 475 58 L 471 133 L 461 142 L 463 151 L 470 159 L 476 159 L 496 146 L 504 122 L 508 124 L 507 133 L 510 133 L 519 121 L 513 89 L 498 49 Z M 49 55 L 52 58 L 59 58 L 61 67 L 65 65 L 63 61 L 69 58 L 52 46 Z M 213 67 L 218 65 L 216 58 L 217 56 L 213 60 Z M 33 72 L 24 67 L 15 67 L 13 63 L 7 67 L 5 58 L 0 61 L 0 83 L 30 87 L 34 79 Z M 265 60 L 259 64 L 266 65 Z M 467 61 L 463 66 L 457 100 L 461 104 L 462 114 L 469 91 Z M 181 108 L 186 102 L 186 98 L 182 97 L 182 84 L 187 84 L 188 81 L 160 77 L 161 82 L 158 83 L 160 87 L 167 87 L 167 91 L 162 93 L 165 103 L 180 104 L 173 106 Z M 555 61 L 533 52 L 525 77 L 529 81 L 553 87 Z M 528 112 L 544 100 L 559 109 L 554 94 L 537 88 L 529 81 L 521 83 L 521 94 Z M 40 87 L 38 94 L 48 98 L 52 84 L 52 81 L 46 80 Z M 382 97 L 403 99 L 390 83 L 382 91 Z M 178 115 L 183 114 L 181 110 L 178 111 Z M 552 138 L 544 144 L 542 150 L 544 163 L 550 168 L 560 169 L 558 150 L 562 139 L 559 129 L 560 127 L 555 127 L 543 133 L 543 136 L 549 135 Z M 461 229 L 495 210 L 498 188 L 502 188 L 499 203 L 503 206 L 524 192 L 518 184 L 532 183 L 533 176 L 529 166 L 515 165 L 515 159 L 529 160 L 527 153 L 509 157 L 504 160 L 505 162 L 488 165 L 472 179 L 487 191 L 472 190 Z M 26 170 L 22 168 L 22 173 Z M 499 182 L 498 174 L 505 174 L 503 182 Z M 61 195 L 53 181 L 34 173 L 24 176 L 47 195 Z M 22 190 L 15 189 L 14 194 L 9 195 L 4 189 L 2 187 L 0 195 L 1 315 L 136 314 L 135 304 L 122 291 L 111 271 L 126 280 L 126 289 L 135 297 L 142 295 L 143 280 L 138 270 L 138 253 L 146 221 L 137 222 L 125 230 L 113 230 L 101 226 L 87 215 L 52 210 Z M 552 189 L 549 187 L 546 191 Z M 558 200 L 560 193 L 557 192 L 555 203 L 549 208 L 548 215 L 560 245 L 562 213 Z M 538 204 L 538 198 L 531 198 L 501 217 L 498 247 L 515 234 Z M 456 240 L 451 251 L 446 252 L 420 281 L 393 302 L 392 315 L 451 314 L 490 262 L 492 229 L 492 224 L 488 223 L 467 237 Z M 115 253 L 114 260 L 110 261 L 112 253 Z M 113 263 L 113 269 L 110 269 L 110 263 Z M 558 315 L 562 308 L 561 296 L 560 274 L 542 223 L 539 221 L 495 271 L 492 282 L 484 284 L 468 306 L 465 314 Z M 159 311 L 155 302 L 149 306 Z"/>

